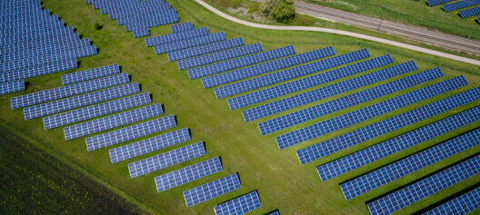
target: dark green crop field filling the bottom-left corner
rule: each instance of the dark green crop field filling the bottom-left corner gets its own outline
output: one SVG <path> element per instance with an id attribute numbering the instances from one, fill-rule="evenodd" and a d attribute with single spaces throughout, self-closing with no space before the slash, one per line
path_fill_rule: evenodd
<path id="1" fill-rule="evenodd" d="M 3 214 L 135 214 L 138 207 L 0 126 Z"/>

